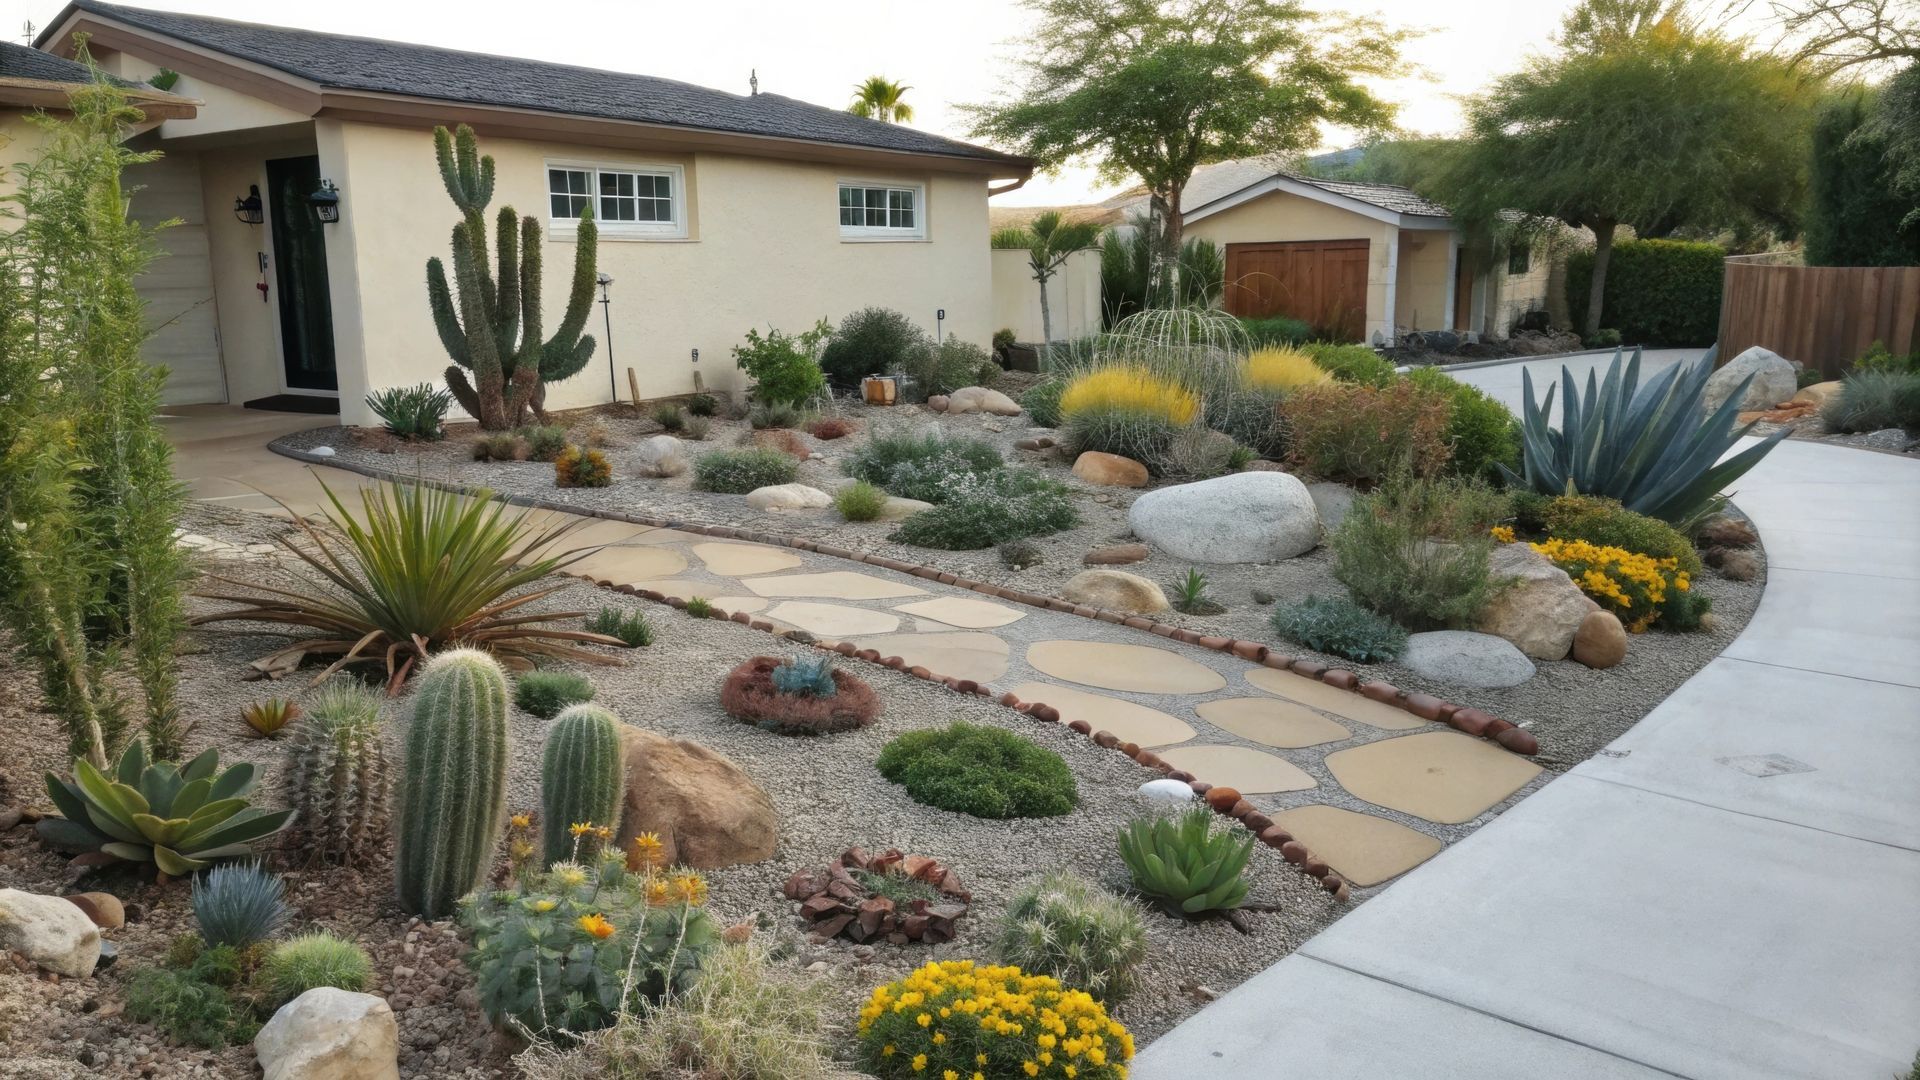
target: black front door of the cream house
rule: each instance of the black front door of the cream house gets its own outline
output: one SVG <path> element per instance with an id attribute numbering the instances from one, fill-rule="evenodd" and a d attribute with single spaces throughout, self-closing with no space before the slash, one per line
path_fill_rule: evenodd
<path id="1" fill-rule="evenodd" d="M 340 388 L 334 379 L 334 311 L 326 294 L 326 227 L 307 206 L 307 196 L 319 186 L 319 158 L 267 161 L 288 390 Z"/>

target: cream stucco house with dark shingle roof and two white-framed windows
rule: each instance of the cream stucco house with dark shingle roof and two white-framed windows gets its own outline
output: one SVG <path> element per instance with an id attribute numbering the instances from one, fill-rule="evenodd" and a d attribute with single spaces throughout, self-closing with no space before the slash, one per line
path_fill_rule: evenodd
<path id="1" fill-rule="evenodd" d="M 424 263 L 459 213 L 432 127 L 467 123 L 497 161 L 490 215 L 543 231 L 559 321 L 580 208 L 595 200 L 609 304 L 588 369 L 547 407 L 695 386 L 739 390 L 749 327 L 810 327 L 885 306 L 987 344 L 987 196 L 1031 161 L 768 92 L 75 0 L 36 48 L 75 35 L 109 75 L 179 73 L 192 115 L 136 135 L 165 156 L 129 177 L 165 258 L 142 277 L 156 323 L 204 311 L 173 342 L 169 402 L 338 407 L 374 423 L 371 390 L 442 382 L 447 356 Z M 323 221 L 315 192 L 338 198 Z M 326 202 L 326 196 L 321 198 Z"/>

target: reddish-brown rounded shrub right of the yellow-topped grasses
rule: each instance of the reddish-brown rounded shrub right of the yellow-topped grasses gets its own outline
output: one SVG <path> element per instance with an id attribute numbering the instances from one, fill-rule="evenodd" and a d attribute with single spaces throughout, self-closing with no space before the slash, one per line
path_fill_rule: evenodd
<path id="1" fill-rule="evenodd" d="M 1308 386 L 1281 405 L 1294 461 L 1325 480 L 1375 484 L 1392 473 L 1432 477 L 1448 463 L 1448 400 L 1407 380 Z"/>

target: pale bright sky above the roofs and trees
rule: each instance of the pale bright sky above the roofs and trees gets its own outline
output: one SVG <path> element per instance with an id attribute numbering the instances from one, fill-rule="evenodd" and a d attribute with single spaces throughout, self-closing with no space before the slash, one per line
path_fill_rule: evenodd
<path id="1" fill-rule="evenodd" d="M 1373 0 L 1323 10 L 1373 12 L 1390 25 L 1425 27 L 1405 58 L 1425 79 L 1377 86 L 1402 106 L 1409 131 L 1446 135 L 1459 125 L 1457 96 L 1515 69 L 1557 29 L 1574 0 Z M 747 92 L 760 88 L 845 108 L 852 85 L 885 75 L 912 86 L 914 127 L 966 138 L 960 102 L 1018 86 L 1020 38 L 1033 15 L 1016 0 L 563 0 L 472 4 L 445 0 L 148 0 L 148 8 L 499 52 L 534 60 L 639 71 Z M 60 0 L 0 0 L 0 29 L 52 21 Z M 1325 133 L 1323 150 L 1344 144 Z M 1037 175 L 1006 206 L 1094 202 L 1091 169 Z"/>

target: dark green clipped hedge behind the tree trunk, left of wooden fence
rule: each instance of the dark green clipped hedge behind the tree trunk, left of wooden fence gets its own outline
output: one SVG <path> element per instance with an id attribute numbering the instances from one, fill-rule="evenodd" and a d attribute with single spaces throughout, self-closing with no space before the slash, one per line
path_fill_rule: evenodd
<path id="1" fill-rule="evenodd" d="M 1607 263 L 1599 325 L 1636 346 L 1707 346 L 1720 334 L 1726 248 L 1688 240 L 1620 240 Z M 1567 259 L 1567 307 L 1586 327 L 1594 252 Z"/>

